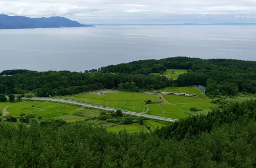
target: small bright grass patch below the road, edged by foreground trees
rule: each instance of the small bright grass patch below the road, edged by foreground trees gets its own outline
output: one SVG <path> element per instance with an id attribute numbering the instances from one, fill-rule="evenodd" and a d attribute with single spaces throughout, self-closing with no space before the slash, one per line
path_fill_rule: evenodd
<path id="1" fill-rule="evenodd" d="M 139 124 L 130 124 L 130 125 L 118 125 L 118 126 L 114 126 L 114 127 L 108 127 L 107 131 L 108 132 L 119 132 L 122 130 L 126 130 L 129 133 L 134 133 L 134 132 L 145 132 L 147 133 L 147 131 L 145 130 L 145 128 L 143 128 L 141 125 Z"/>

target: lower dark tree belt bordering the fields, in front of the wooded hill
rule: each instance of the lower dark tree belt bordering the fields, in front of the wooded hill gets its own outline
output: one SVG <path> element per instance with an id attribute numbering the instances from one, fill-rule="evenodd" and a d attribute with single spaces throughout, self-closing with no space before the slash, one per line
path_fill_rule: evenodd
<path id="1" fill-rule="evenodd" d="M 118 88 L 119 84 L 127 82 L 135 83 L 132 90 L 137 91 L 167 87 L 171 81 L 165 76 L 143 74 L 27 71 L 13 76 L 0 76 L 0 94 L 34 92 L 37 96 L 53 96 L 56 93 L 71 95 L 104 88 Z"/>

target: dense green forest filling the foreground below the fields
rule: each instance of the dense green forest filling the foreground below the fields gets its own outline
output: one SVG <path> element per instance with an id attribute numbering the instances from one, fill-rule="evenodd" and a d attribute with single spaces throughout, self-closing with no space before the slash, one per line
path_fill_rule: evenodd
<path id="1" fill-rule="evenodd" d="M 79 122 L 18 128 L 0 124 L 0 165 L 255 167 L 256 101 L 224 110 L 176 122 L 153 134 L 109 133 Z M 208 118 L 216 119 L 209 123 Z"/>

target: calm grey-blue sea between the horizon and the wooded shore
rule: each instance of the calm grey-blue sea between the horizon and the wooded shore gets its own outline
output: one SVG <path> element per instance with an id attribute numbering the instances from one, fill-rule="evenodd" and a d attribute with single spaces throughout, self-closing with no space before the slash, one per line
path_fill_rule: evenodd
<path id="1" fill-rule="evenodd" d="M 0 30 L 0 71 L 84 71 L 174 56 L 256 61 L 256 27 L 154 25 Z"/>

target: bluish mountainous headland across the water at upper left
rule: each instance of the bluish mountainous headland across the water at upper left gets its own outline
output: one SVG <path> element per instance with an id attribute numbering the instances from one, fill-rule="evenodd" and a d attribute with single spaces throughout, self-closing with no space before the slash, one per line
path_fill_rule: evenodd
<path id="1" fill-rule="evenodd" d="M 90 27 L 65 17 L 30 18 L 25 16 L 0 15 L 0 29 L 31 29 L 31 28 L 61 28 Z"/>

